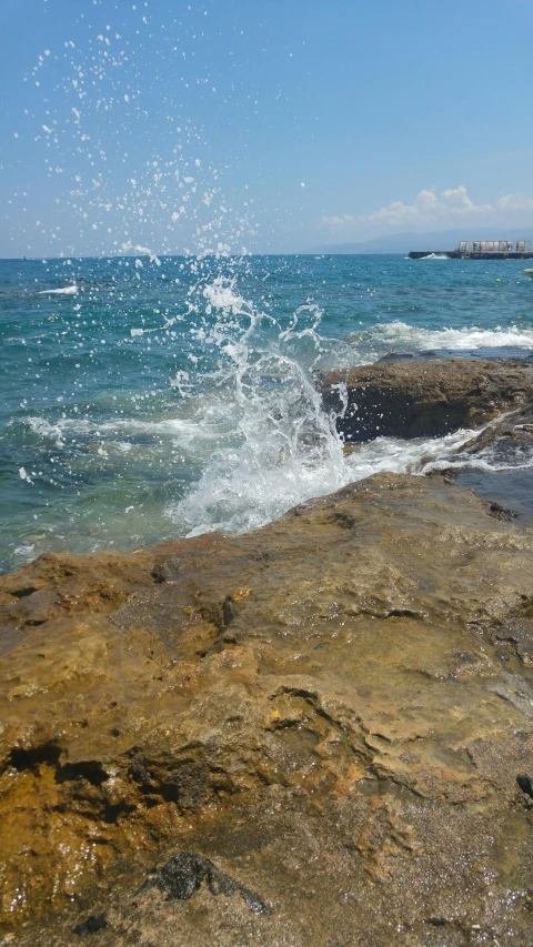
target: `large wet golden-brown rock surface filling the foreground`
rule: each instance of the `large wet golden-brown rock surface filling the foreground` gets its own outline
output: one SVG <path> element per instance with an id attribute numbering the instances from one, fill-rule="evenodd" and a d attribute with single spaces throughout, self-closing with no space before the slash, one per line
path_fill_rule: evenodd
<path id="1" fill-rule="evenodd" d="M 531 947 L 533 532 L 493 512 L 382 474 L 2 577 L 3 943 Z M 145 884 L 183 853 L 190 897 Z"/>

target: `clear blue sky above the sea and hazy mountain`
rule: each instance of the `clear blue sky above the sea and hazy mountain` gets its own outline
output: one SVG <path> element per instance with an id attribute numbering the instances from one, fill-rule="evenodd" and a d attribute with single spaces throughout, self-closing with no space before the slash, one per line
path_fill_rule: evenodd
<path id="1" fill-rule="evenodd" d="M 0 0 L 0 256 L 533 225 L 531 0 Z"/>

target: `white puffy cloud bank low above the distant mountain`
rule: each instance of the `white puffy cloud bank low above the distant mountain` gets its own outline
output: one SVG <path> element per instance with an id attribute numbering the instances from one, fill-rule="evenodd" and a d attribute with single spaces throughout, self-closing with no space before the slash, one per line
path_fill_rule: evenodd
<path id="1" fill-rule="evenodd" d="M 449 188 L 435 193 L 434 189 L 419 191 L 412 204 L 393 201 L 385 208 L 370 214 L 340 214 L 321 218 L 320 226 L 332 233 L 361 232 L 364 230 L 383 232 L 386 230 L 424 230 L 424 228 L 450 226 L 465 220 L 491 224 L 509 225 L 511 218 L 521 213 L 533 214 L 533 197 L 515 192 L 502 194 L 493 204 L 476 204 L 469 198 L 466 188 Z"/>

